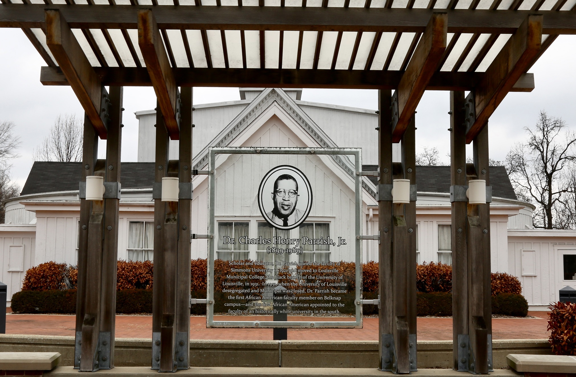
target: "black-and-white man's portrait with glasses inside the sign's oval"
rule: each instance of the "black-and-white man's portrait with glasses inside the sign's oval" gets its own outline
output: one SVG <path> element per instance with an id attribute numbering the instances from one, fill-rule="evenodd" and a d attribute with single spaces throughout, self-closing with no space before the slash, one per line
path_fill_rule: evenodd
<path id="1" fill-rule="evenodd" d="M 289 174 L 282 174 L 274 181 L 272 201 L 274 209 L 266 215 L 270 220 L 283 227 L 294 225 L 302 217 L 302 211 L 296 208 L 298 203 L 298 182 Z"/>

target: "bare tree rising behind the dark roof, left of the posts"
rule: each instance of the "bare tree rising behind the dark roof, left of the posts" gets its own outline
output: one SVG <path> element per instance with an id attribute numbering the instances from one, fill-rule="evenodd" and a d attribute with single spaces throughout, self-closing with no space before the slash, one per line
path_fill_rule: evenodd
<path id="1" fill-rule="evenodd" d="M 82 121 L 76 115 L 58 115 L 50 135 L 37 146 L 32 157 L 35 161 L 81 161 Z"/>

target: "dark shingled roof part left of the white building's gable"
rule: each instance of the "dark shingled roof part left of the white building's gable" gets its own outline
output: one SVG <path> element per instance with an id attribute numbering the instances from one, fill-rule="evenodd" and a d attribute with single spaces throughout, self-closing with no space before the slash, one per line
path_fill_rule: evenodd
<path id="1" fill-rule="evenodd" d="M 35 161 L 20 195 L 78 190 L 82 163 Z M 123 189 L 152 187 L 154 163 L 122 163 L 120 183 Z"/>

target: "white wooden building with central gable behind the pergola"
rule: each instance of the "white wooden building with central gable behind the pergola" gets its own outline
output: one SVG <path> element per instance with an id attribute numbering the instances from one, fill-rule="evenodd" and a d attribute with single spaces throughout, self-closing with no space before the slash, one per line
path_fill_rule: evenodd
<path id="1" fill-rule="evenodd" d="M 297 89 L 241 88 L 241 100 L 196 105 L 194 169 L 206 169 L 209 146 L 278 146 L 361 148 L 363 170 L 377 164 L 377 114 L 300 100 Z M 119 259 L 152 259 L 152 182 L 154 179 L 155 111 L 136 113 L 139 119 L 138 162 L 122 163 Z M 418 122 L 418 119 L 416 119 Z M 177 151 L 177 141 L 170 142 Z M 395 159 L 399 151 L 393 150 Z M 177 154 L 170 152 L 170 159 Z M 215 219 L 220 233 L 256 238 L 270 235 L 255 203 L 259 180 L 269 166 L 286 161 L 298 165 L 314 189 L 314 204 L 305 227 L 283 236 L 350 234 L 354 228 L 354 178 L 343 159 L 328 156 L 228 155 L 217 160 Z M 22 194 L 6 203 L 6 224 L 0 225 L 2 269 L 8 300 L 21 289 L 25 270 L 46 261 L 77 261 L 80 163 L 35 163 Z M 558 290 L 574 283 L 576 231 L 532 229 L 533 206 L 516 199 L 503 167 L 490 172 L 492 186 L 491 261 L 493 272 L 518 276 L 530 308 L 544 310 L 558 300 Z M 362 184 L 363 234 L 378 229 L 377 184 Z M 416 169 L 418 261 L 451 262 L 449 167 Z M 193 178 L 192 231 L 205 233 L 208 221 L 206 175 Z M 219 184 L 220 183 L 220 184 Z M 238 204 L 248 203 L 248 204 Z M 304 233 L 308 232 L 308 233 Z M 255 244 L 217 243 L 224 259 L 267 258 Z M 192 241 L 192 258 L 206 258 L 206 241 Z M 290 260 L 353 261 L 350 247 L 315 245 L 303 257 Z M 566 257 L 566 255 L 568 257 Z M 574 255 L 574 257 L 572 257 Z M 365 241 L 363 261 L 377 261 L 377 242 Z M 284 259 L 287 260 L 287 259 Z M 573 271 L 574 270 L 574 271 Z M 573 272 L 572 272 L 573 271 Z M 571 275 L 570 275 L 571 273 Z M 570 275 L 570 276 L 569 276 Z"/>

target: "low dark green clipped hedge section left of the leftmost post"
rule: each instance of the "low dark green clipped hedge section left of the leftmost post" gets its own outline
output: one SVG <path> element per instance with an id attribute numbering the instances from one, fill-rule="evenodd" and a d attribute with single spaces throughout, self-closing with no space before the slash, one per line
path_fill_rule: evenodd
<path id="1" fill-rule="evenodd" d="M 10 306 L 16 313 L 75 313 L 76 290 L 20 291 L 14 293 Z"/>

